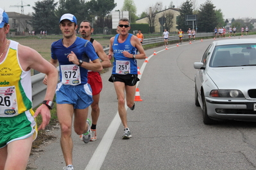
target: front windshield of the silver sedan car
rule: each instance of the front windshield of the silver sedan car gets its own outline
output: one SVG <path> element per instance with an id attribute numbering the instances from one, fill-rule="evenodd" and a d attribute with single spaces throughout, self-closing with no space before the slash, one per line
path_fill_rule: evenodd
<path id="1" fill-rule="evenodd" d="M 256 65 L 256 44 L 219 45 L 210 59 L 211 67 Z"/>

